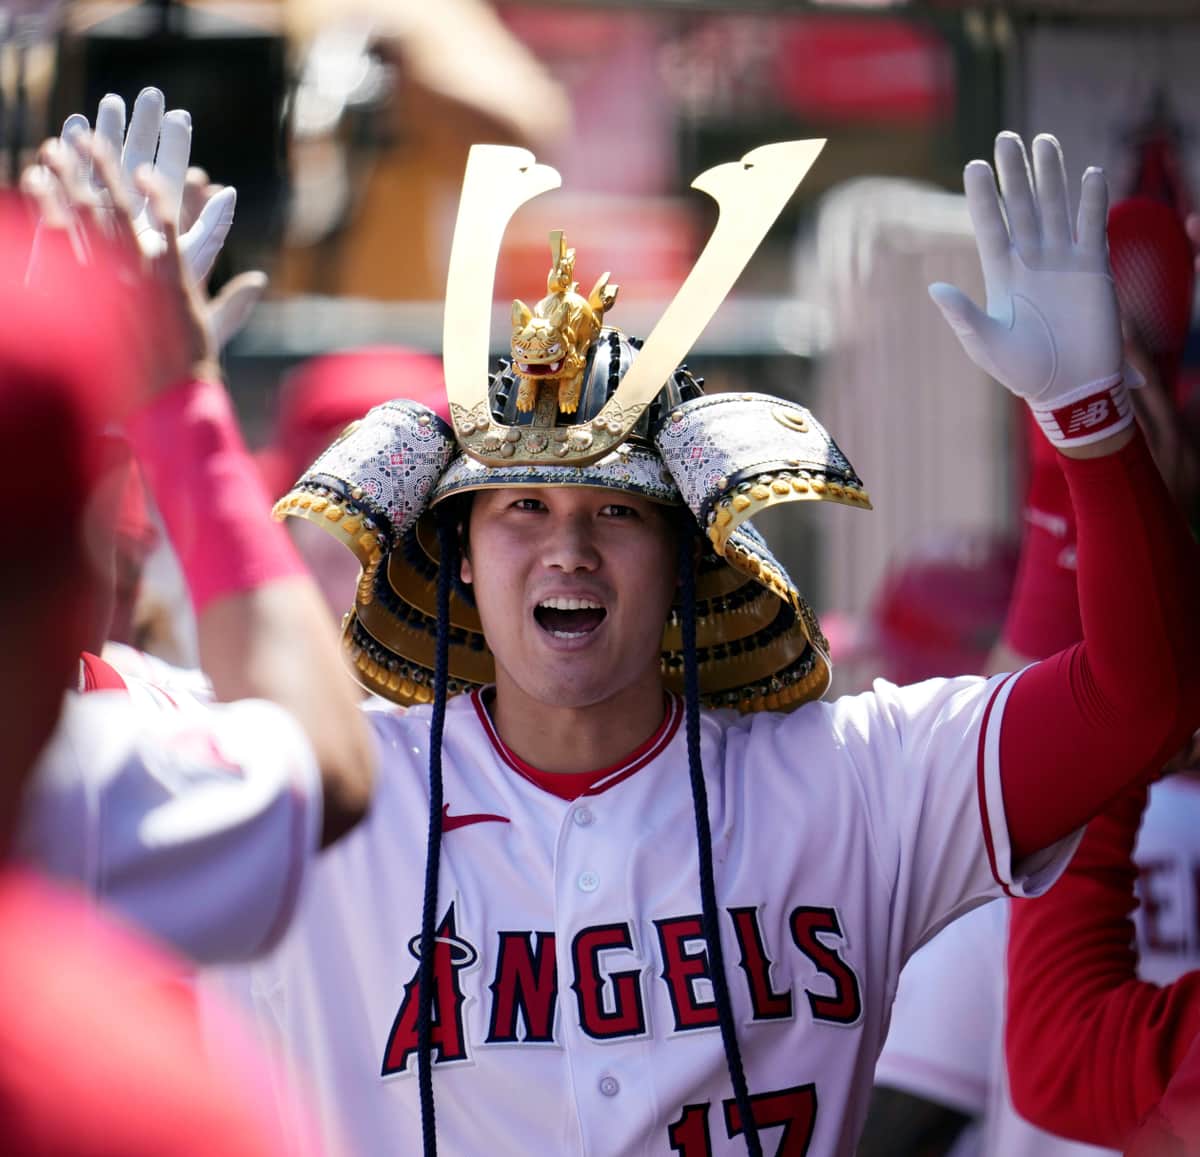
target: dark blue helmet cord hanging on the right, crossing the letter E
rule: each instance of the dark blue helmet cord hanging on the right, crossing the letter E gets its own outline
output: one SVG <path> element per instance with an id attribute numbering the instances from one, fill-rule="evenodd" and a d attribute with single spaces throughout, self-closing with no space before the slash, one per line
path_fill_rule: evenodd
<path id="1" fill-rule="evenodd" d="M 700 670 L 696 661 L 696 559 L 694 540 L 686 532 L 679 534 L 679 578 L 683 604 L 683 664 L 684 707 L 688 735 L 688 772 L 691 777 L 691 798 L 696 815 L 696 847 L 700 857 L 701 925 L 708 945 L 708 971 L 713 982 L 716 1020 L 725 1045 L 725 1063 L 733 1084 L 738 1116 L 750 1157 L 762 1157 L 762 1144 L 750 1104 L 742 1049 L 733 1024 L 733 1006 L 725 973 L 725 952 L 721 948 L 720 910 L 716 906 L 716 885 L 713 880 L 713 833 L 708 822 L 708 791 L 704 787 L 704 767 L 700 757 Z"/>

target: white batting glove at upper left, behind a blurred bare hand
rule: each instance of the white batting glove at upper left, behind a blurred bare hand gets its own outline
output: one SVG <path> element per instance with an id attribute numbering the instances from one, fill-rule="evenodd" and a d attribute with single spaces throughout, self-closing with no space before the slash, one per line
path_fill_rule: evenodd
<path id="1" fill-rule="evenodd" d="M 192 152 L 192 116 L 186 109 L 164 113 L 166 100 L 158 89 L 143 89 L 133 102 L 128 132 L 125 130 L 125 101 L 109 92 L 96 110 L 96 137 L 112 156 L 119 158 L 121 187 L 133 212 L 133 228 L 146 257 L 157 257 L 166 247 L 162 230 L 151 216 L 146 198 L 139 192 L 133 174 L 143 164 L 154 167 L 167 188 L 172 220 L 179 220 L 184 198 L 184 181 Z M 88 118 L 73 113 L 62 124 L 62 140 L 71 144 L 82 133 L 91 131 Z M 100 192 L 95 174 L 92 188 Z M 179 239 L 184 263 L 197 284 L 203 284 L 221 252 L 221 246 L 233 224 L 238 202 L 234 188 L 223 188 L 211 198 L 192 227 Z"/>

